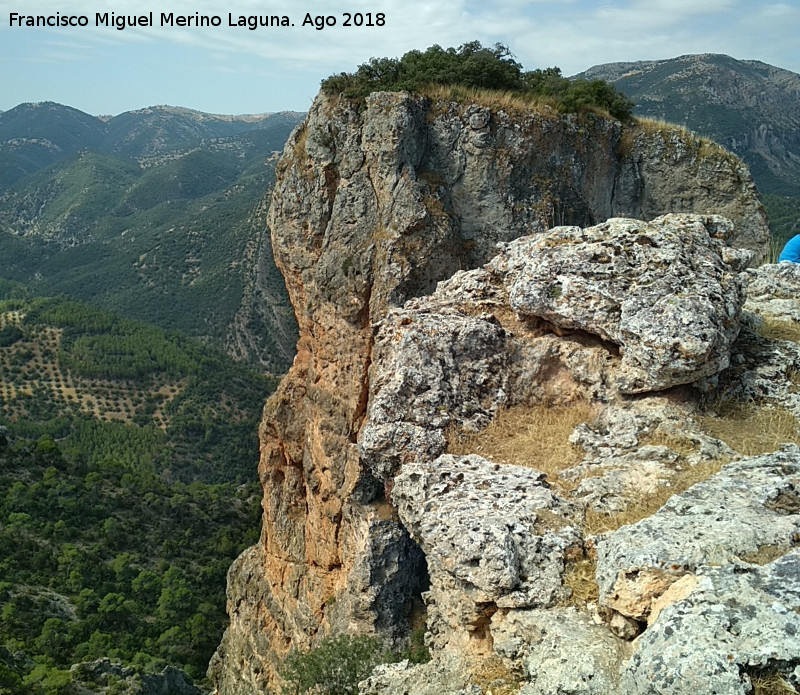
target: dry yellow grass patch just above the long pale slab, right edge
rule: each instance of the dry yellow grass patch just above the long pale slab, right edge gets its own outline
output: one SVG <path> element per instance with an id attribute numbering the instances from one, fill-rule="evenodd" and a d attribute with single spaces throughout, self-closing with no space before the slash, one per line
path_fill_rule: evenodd
<path id="1" fill-rule="evenodd" d="M 777 451 L 781 444 L 800 444 L 797 418 L 785 408 L 768 408 L 742 401 L 719 401 L 699 418 L 712 437 L 745 456 Z"/>

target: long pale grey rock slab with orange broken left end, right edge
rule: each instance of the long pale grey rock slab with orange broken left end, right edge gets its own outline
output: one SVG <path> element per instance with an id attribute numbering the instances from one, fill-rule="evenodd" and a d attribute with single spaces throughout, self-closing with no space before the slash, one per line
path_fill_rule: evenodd
<path id="1" fill-rule="evenodd" d="M 800 448 L 735 461 L 655 514 L 597 538 L 600 602 L 648 620 L 684 575 L 800 540 Z"/>

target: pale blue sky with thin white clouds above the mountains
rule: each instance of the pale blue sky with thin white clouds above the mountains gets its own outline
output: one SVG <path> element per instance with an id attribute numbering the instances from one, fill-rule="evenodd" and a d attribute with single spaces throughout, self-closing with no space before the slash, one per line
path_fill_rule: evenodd
<path id="1" fill-rule="evenodd" d="M 154 26 L 95 26 L 98 13 L 112 12 L 152 12 Z M 12 13 L 83 16 L 88 25 L 12 26 Z M 218 17 L 220 25 L 161 26 L 161 13 Z M 229 26 L 229 13 L 234 24 L 285 15 L 294 26 Z M 361 26 L 344 26 L 347 14 L 351 24 L 360 15 Z M 317 29 L 316 17 L 329 25 Z M 800 73 L 800 0 L 0 0 L 0 111 L 30 101 L 93 115 L 158 104 L 219 114 L 306 111 L 330 74 L 371 57 L 473 40 L 507 45 L 525 69 L 555 65 L 565 75 L 687 53 Z"/>

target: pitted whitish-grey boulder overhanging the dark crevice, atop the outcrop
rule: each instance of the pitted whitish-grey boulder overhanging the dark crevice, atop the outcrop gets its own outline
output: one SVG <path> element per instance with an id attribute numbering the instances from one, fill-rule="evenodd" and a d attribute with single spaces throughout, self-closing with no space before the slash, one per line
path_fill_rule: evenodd
<path id="1" fill-rule="evenodd" d="M 618 345 L 621 392 L 657 391 L 728 366 L 744 302 L 731 233 L 715 215 L 614 218 L 512 241 L 489 268 L 518 314 Z"/>

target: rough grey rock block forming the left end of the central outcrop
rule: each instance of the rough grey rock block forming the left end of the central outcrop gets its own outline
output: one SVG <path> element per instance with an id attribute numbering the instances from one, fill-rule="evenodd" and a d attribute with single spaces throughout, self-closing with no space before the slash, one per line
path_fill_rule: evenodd
<path id="1" fill-rule="evenodd" d="M 506 399 L 500 325 L 455 312 L 390 311 L 375 346 L 369 417 L 359 453 L 384 479 L 406 460 L 444 453 L 451 423 L 485 427 Z"/>

